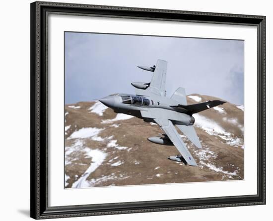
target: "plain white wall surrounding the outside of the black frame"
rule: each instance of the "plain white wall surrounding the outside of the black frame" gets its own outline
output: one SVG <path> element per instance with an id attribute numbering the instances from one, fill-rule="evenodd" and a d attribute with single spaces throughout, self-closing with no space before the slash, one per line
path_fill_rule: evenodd
<path id="1" fill-rule="evenodd" d="M 270 61 L 273 45 L 273 6 L 267 0 L 58 0 L 73 3 L 153 7 L 267 16 L 267 205 L 69 218 L 69 220 L 270 220 L 273 209 L 270 150 L 273 84 Z M 0 219 L 29 220 L 30 210 L 30 0 L 1 2 L 0 13 Z M 271 125 L 270 125 L 271 124 Z M 271 173 L 272 176 L 272 173 Z M 223 190 L 224 191 L 224 190 Z M 68 219 L 63 219 L 68 220 Z"/>

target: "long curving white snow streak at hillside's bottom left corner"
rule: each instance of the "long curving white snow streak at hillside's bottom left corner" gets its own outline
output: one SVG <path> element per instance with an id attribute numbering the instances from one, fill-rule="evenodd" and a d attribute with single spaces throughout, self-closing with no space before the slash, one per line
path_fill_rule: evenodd
<path id="1" fill-rule="evenodd" d="M 98 150 L 98 149 L 90 149 L 90 148 L 84 148 L 86 151 L 86 156 L 92 158 L 92 163 L 87 168 L 87 170 L 84 172 L 84 174 L 73 183 L 72 188 L 82 188 L 82 187 L 89 187 L 90 184 L 88 181 L 86 181 L 87 177 L 94 172 L 105 160 L 107 154 Z"/>

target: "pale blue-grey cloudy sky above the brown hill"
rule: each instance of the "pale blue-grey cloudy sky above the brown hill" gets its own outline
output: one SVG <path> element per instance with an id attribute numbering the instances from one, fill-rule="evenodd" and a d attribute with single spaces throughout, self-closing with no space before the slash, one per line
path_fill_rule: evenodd
<path id="1" fill-rule="evenodd" d="M 181 37 L 65 33 L 65 102 L 135 94 L 132 82 L 150 82 L 137 65 L 168 62 L 166 90 L 244 104 L 244 42 Z"/>

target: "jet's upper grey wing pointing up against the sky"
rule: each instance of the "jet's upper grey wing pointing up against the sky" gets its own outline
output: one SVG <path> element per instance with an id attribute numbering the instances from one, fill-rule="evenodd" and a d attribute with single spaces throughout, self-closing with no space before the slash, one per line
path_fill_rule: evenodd
<path id="1" fill-rule="evenodd" d="M 139 68 L 153 72 L 152 79 L 149 87 L 145 90 L 136 89 L 136 95 L 149 96 L 149 93 L 166 96 L 166 72 L 167 72 L 167 61 L 157 60 L 157 63 L 154 67 L 147 68 L 144 66 L 138 66 Z"/>

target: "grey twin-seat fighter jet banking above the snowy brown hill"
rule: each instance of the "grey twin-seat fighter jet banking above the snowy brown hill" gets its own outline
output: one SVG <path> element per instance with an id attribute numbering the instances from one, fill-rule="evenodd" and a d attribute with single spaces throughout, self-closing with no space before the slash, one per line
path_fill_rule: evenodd
<path id="1" fill-rule="evenodd" d="M 167 98 L 165 90 L 167 62 L 157 60 L 156 65 L 153 67 L 137 67 L 153 73 L 150 83 L 132 83 L 136 88 L 136 95 L 115 94 L 102 98 L 99 101 L 117 113 L 130 114 L 143 119 L 145 122 L 157 123 L 164 131 L 164 134 L 149 137 L 148 140 L 156 144 L 174 145 L 180 154 L 169 156 L 169 160 L 183 162 L 185 165 L 197 166 L 174 125 L 195 146 L 202 148 L 193 126 L 195 122 L 193 114 L 222 105 L 225 102 L 215 100 L 187 105 L 184 88 L 178 88 L 170 98 Z"/>

